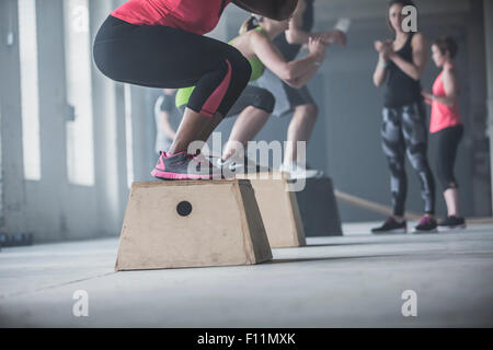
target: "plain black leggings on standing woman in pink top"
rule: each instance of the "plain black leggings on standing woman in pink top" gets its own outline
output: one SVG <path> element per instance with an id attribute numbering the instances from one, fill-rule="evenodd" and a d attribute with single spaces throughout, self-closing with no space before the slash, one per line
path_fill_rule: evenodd
<path id="1" fill-rule="evenodd" d="M 454 176 L 454 165 L 456 164 L 457 148 L 462 135 L 462 125 L 446 128 L 435 133 L 438 139 L 437 175 L 444 191 L 459 187 Z"/>

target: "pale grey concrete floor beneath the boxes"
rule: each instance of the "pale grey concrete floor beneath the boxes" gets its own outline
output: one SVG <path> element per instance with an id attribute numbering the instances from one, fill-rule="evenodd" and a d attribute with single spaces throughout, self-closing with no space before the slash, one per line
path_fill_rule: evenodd
<path id="1" fill-rule="evenodd" d="M 0 327 L 493 327 L 493 225 L 310 238 L 252 267 L 114 272 L 118 241 L 0 252 Z M 73 292 L 89 293 L 74 317 Z M 402 292 L 417 293 L 403 317 Z"/>

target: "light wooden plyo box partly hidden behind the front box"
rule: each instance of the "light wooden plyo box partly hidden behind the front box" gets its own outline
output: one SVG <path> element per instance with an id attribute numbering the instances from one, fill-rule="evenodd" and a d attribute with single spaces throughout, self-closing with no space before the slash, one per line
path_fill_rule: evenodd
<path id="1" fill-rule="evenodd" d="M 248 178 L 252 183 L 272 248 L 307 245 L 296 194 L 288 191 L 285 174 L 242 174 L 237 177 Z"/>

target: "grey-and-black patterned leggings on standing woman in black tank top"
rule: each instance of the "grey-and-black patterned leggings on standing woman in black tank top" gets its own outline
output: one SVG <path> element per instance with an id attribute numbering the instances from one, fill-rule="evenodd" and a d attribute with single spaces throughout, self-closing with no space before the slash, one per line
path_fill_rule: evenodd
<path id="1" fill-rule="evenodd" d="M 435 212 L 435 180 L 427 160 L 426 114 L 423 103 L 383 108 L 381 130 L 383 153 L 389 161 L 393 214 L 403 217 L 408 195 L 405 159 L 417 172 L 425 213 Z"/>

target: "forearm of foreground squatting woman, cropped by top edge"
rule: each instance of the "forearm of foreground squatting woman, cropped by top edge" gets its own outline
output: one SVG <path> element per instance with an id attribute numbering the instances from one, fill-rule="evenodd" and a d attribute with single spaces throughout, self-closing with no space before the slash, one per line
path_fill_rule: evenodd
<path id="1" fill-rule="evenodd" d="M 245 11 L 276 21 L 289 19 L 298 4 L 298 0 L 232 0 L 231 2 Z"/>

